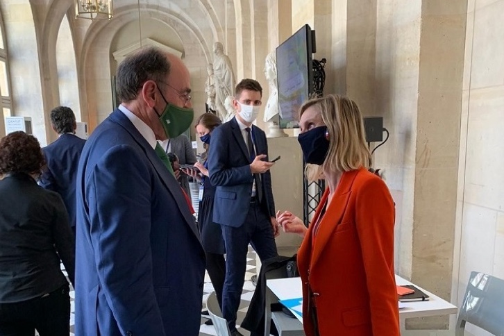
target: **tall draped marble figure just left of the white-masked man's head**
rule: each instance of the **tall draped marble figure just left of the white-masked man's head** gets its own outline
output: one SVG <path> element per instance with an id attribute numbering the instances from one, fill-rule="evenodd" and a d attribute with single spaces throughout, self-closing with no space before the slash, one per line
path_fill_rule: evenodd
<path id="1" fill-rule="evenodd" d="M 219 115 L 226 115 L 224 105 L 227 96 L 232 96 L 235 90 L 236 79 L 233 65 L 226 54 L 221 42 L 214 44 L 214 78 L 215 78 L 215 107 Z"/>

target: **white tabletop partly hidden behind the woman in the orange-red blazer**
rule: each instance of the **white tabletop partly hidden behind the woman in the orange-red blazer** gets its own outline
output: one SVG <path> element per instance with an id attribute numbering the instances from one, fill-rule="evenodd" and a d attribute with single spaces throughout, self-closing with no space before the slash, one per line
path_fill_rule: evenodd
<path id="1" fill-rule="evenodd" d="M 410 281 L 401 278 L 396 274 L 397 285 L 414 285 Z M 412 301 L 401 303 L 399 317 L 408 319 L 410 317 L 428 317 L 437 315 L 450 315 L 457 313 L 457 307 L 439 296 L 426 291 L 418 285 L 414 285 L 429 296 L 428 301 Z M 279 300 L 296 299 L 303 296 L 301 288 L 301 278 L 280 278 L 267 280 L 267 287 Z M 268 307 L 267 307 L 268 309 Z"/>

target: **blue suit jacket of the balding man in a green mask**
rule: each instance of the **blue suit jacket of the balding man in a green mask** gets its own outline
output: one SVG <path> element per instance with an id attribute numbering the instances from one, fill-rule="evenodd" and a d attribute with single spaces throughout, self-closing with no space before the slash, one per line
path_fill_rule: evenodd
<path id="1" fill-rule="evenodd" d="M 84 146 L 76 244 L 76 335 L 199 334 L 199 230 L 180 185 L 119 110 Z"/>

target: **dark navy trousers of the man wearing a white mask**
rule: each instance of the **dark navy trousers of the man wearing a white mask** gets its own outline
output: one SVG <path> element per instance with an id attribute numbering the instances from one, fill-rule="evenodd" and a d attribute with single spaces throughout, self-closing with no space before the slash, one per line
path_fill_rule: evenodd
<path id="1" fill-rule="evenodd" d="M 251 243 L 260 260 L 276 257 L 275 237 L 271 219 L 259 203 L 251 203 L 245 222 L 238 228 L 222 225 L 226 242 L 226 280 L 222 293 L 222 315 L 228 321 L 229 330 L 236 330 L 236 314 L 240 306 L 245 281 L 246 255 Z"/>

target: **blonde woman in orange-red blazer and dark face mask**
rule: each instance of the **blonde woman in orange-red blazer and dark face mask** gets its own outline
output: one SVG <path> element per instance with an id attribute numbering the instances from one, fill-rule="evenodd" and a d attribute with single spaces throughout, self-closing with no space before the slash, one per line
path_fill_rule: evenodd
<path id="1" fill-rule="evenodd" d="M 308 336 L 398 336 L 394 202 L 367 168 L 371 154 L 355 102 L 328 95 L 301 107 L 299 142 L 312 177 L 328 188 L 308 229 L 289 212 L 287 232 L 304 235 L 298 253 Z M 301 224 L 301 225 L 300 225 Z"/>

